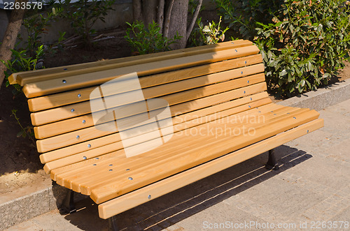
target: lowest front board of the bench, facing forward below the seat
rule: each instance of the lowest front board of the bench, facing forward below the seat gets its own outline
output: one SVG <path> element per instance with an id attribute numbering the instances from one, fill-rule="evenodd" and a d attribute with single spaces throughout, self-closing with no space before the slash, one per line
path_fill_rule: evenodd
<path id="1" fill-rule="evenodd" d="M 137 207 L 140 204 L 159 198 L 161 195 L 175 191 L 176 189 L 203 179 L 204 177 L 208 177 L 216 172 L 220 172 L 221 170 L 225 170 L 232 165 L 236 165 L 237 163 L 246 161 L 249 158 L 258 156 L 265 151 L 279 147 L 290 140 L 294 140 L 297 137 L 306 135 L 307 133 L 316 131 L 318 128 L 322 127 L 323 119 L 316 119 L 274 137 L 251 144 L 248 147 L 244 147 L 243 149 L 210 161 L 209 163 L 204 163 L 203 165 L 194 167 L 186 172 L 181 172 L 172 177 L 168 177 L 167 179 L 163 179 L 162 181 L 140 188 L 132 193 L 127 193 L 119 198 L 99 204 L 99 217 L 107 219 L 116 214 L 120 214 L 123 211 L 127 211 L 128 209 Z M 148 198 L 148 195 L 151 195 L 151 199 Z"/>

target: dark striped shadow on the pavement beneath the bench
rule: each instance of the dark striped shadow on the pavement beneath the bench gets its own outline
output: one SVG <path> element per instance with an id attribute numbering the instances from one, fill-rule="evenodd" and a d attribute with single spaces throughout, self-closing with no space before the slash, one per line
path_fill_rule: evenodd
<path id="1" fill-rule="evenodd" d="M 269 171 L 265 168 L 267 156 L 265 152 L 118 214 L 118 228 L 120 230 L 163 230 L 312 157 L 305 151 L 282 145 L 276 148 L 280 169 Z M 78 202 L 76 207 L 78 209 L 76 213 L 65 216 L 72 225 L 81 230 L 108 230 L 108 220 L 99 218 L 97 204 L 94 204 L 90 198 Z"/>

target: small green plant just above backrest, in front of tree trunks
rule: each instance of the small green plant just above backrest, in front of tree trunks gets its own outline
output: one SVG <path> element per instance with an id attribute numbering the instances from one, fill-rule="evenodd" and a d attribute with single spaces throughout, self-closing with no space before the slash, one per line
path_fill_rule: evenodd
<path id="1" fill-rule="evenodd" d="M 139 54 L 150 54 L 171 50 L 170 45 L 176 43 L 182 37 L 176 33 L 174 38 L 166 38 L 160 33 L 160 27 L 154 21 L 145 27 L 144 22 L 133 22 L 127 28 L 127 35 L 124 37 L 130 43 L 133 52 Z"/>

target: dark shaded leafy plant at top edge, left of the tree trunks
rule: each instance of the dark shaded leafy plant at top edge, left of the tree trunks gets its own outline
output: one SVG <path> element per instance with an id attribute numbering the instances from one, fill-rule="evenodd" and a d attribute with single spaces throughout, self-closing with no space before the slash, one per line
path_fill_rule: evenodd
<path id="1" fill-rule="evenodd" d="M 71 22 L 71 27 L 76 34 L 83 37 L 86 46 L 91 45 L 91 35 L 96 31 L 92 29 L 97 20 L 104 21 L 111 5 L 116 0 L 59 0 L 56 8 L 59 15 Z"/>

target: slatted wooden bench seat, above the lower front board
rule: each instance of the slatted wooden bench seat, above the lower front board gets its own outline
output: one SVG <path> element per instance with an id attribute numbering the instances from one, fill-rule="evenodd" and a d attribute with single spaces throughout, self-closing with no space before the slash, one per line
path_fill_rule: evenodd
<path id="1" fill-rule="evenodd" d="M 259 103 L 263 103 L 263 100 L 255 104 Z M 185 130 L 177 132 L 186 134 L 187 130 L 187 135 L 175 133 L 172 140 L 157 149 L 130 158 L 126 158 L 124 150 L 120 149 L 88 161 L 59 167 L 51 171 L 51 177 L 57 184 L 91 195 L 92 200 L 99 204 L 318 118 L 318 112 L 314 110 L 283 107 L 274 103 L 248 111 L 251 112 L 233 115 L 224 111 L 222 118 L 200 125 L 185 122 L 179 126 Z M 207 117 L 202 120 L 211 119 L 210 115 Z M 252 124 L 249 121 L 247 123 L 245 118 L 260 118 L 260 121 Z M 236 119 L 244 121 L 225 123 L 226 120 Z M 321 124 L 321 121 L 318 122 Z M 201 134 L 191 132 L 191 128 L 186 129 L 193 125 L 197 125 L 193 131 L 200 131 Z M 246 127 L 244 135 L 241 134 L 243 126 Z M 235 135 L 235 132 L 240 134 Z M 91 166 L 94 168 L 91 169 Z"/>

